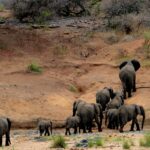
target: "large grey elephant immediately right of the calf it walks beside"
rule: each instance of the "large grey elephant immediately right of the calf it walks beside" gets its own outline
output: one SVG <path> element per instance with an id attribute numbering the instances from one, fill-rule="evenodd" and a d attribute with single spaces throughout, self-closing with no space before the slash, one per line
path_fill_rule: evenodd
<path id="1" fill-rule="evenodd" d="M 75 112 L 74 107 L 76 108 Z M 94 119 L 98 126 L 98 131 L 102 131 L 103 112 L 100 104 L 86 103 L 78 100 L 74 102 L 73 113 L 80 117 L 80 128 L 83 129 L 83 133 L 86 133 L 86 129 L 88 129 L 89 132 L 92 132 Z"/>

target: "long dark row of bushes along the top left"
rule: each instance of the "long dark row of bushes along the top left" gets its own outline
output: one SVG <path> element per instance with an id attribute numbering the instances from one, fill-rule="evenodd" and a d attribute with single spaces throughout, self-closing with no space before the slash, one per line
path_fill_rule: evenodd
<path id="1" fill-rule="evenodd" d="M 55 15 L 81 15 L 85 12 L 81 0 L 15 0 L 12 8 L 17 19 L 27 22 L 41 22 Z"/>

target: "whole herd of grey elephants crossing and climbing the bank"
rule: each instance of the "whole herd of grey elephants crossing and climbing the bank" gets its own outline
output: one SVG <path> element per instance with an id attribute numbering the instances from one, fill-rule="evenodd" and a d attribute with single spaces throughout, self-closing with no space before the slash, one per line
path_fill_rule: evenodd
<path id="1" fill-rule="evenodd" d="M 145 110 L 143 106 L 137 104 L 127 105 L 124 100 L 136 92 L 136 71 L 140 68 L 138 60 L 124 61 L 119 65 L 119 78 L 122 89 L 118 92 L 110 87 L 104 87 L 96 93 L 96 103 L 87 103 L 84 100 L 76 100 L 73 103 L 73 114 L 66 119 L 65 134 L 71 134 L 70 129 L 74 129 L 74 134 L 92 132 L 93 123 L 97 124 L 98 131 L 102 131 L 102 120 L 105 118 L 105 126 L 109 129 L 117 129 L 123 132 L 125 124 L 132 121 L 130 131 L 143 129 L 145 121 Z M 139 126 L 137 116 L 143 116 L 141 126 Z M 105 117 L 104 117 L 105 116 Z M 2 146 L 2 136 L 6 135 L 6 146 L 10 145 L 11 121 L 9 118 L 0 118 L 0 146 Z M 52 121 L 40 120 L 38 122 L 40 136 L 52 134 Z"/>

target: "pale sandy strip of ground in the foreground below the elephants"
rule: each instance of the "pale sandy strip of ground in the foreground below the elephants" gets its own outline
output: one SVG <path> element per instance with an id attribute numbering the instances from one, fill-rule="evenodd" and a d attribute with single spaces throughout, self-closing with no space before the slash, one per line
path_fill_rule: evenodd
<path id="1" fill-rule="evenodd" d="M 39 137 L 37 130 L 13 130 L 11 132 L 12 144 L 9 147 L 4 147 L 4 150 L 49 150 L 53 145 L 53 138 L 56 135 L 64 136 L 64 130 L 55 130 L 53 137 Z M 118 131 L 104 130 L 102 133 L 97 133 L 96 130 L 92 134 L 77 134 L 71 136 L 64 136 L 68 150 L 87 149 L 86 147 L 76 147 L 83 139 L 101 138 L 103 139 L 103 146 L 92 147 L 91 150 L 105 149 L 105 150 L 121 150 L 123 149 L 124 141 L 128 140 L 132 143 L 130 149 L 146 150 L 147 148 L 140 146 L 140 140 L 143 139 L 143 133 L 149 132 L 146 129 L 141 132 L 118 133 Z"/>

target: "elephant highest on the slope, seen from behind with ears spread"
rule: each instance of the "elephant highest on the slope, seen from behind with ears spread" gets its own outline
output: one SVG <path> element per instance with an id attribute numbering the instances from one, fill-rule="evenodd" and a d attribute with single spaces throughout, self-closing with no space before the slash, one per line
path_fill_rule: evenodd
<path id="1" fill-rule="evenodd" d="M 136 71 L 140 68 L 140 62 L 133 59 L 130 61 L 124 61 L 119 66 L 119 78 L 122 82 L 124 99 L 126 99 L 126 93 L 128 97 L 131 97 L 131 92 L 136 92 Z"/>

